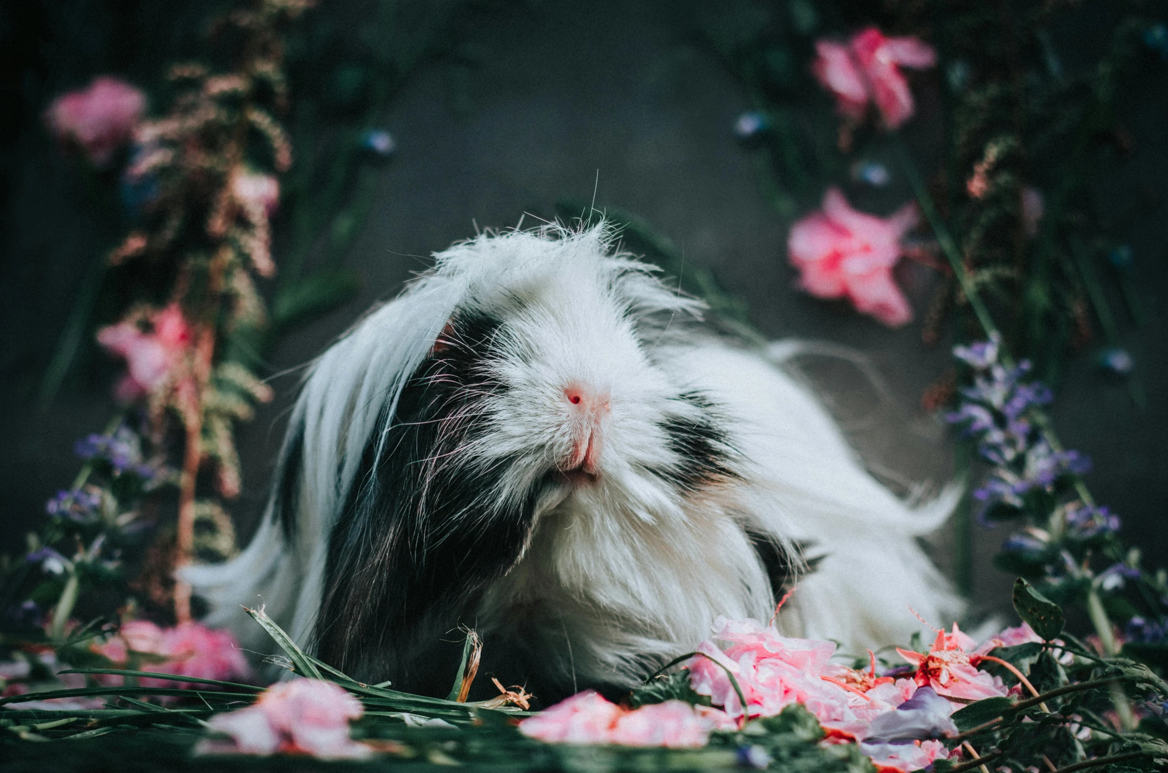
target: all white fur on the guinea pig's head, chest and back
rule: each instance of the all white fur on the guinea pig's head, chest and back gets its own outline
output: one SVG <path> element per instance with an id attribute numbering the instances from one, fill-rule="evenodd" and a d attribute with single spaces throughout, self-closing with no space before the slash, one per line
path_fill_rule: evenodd
<path id="1" fill-rule="evenodd" d="M 258 627 L 239 605 L 267 612 L 307 642 L 321 597 L 327 535 L 362 451 L 456 309 L 506 320 L 503 354 L 484 368 L 508 390 L 488 404 L 488 438 L 458 464 L 519 457 L 495 501 L 517 497 L 572 453 L 568 383 L 611 396 L 598 481 L 561 487 L 538 508 L 528 544 L 495 582 L 478 622 L 489 632 L 517 607 L 554 611 L 582 680 L 632 682 L 639 655 L 691 649 L 717 615 L 767 620 L 774 599 L 743 532 L 752 524 L 784 545 L 823 556 L 780 622 L 786 633 L 840 641 L 856 653 L 904 642 L 960 603 L 916 537 L 936 529 L 955 494 L 915 510 L 872 479 L 820 403 L 773 361 L 683 325 L 701 305 L 676 295 L 642 264 L 610 256 L 603 228 L 484 235 L 436 256 L 432 272 L 374 309 L 315 363 L 292 416 L 305 446 L 297 541 L 271 518 L 239 557 L 185 571 L 251 648 Z M 677 319 L 674 319 L 674 318 Z M 684 415 L 701 390 L 717 403 L 741 480 L 684 495 L 647 467 L 676 464 L 659 420 Z M 259 598 L 257 598 L 259 597 Z M 549 636 L 554 639 L 554 636 Z"/>

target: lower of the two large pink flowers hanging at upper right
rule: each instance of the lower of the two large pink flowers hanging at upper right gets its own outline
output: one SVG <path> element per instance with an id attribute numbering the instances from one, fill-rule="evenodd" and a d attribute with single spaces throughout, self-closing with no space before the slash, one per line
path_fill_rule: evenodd
<path id="1" fill-rule="evenodd" d="M 905 204 L 891 217 L 858 213 L 839 188 L 823 195 L 823 209 L 791 228 L 787 256 L 799 269 L 799 285 L 816 298 L 848 298 L 856 309 L 890 327 L 912 319 L 892 280 L 904 252 L 901 238 L 917 224 L 917 208 Z"/>

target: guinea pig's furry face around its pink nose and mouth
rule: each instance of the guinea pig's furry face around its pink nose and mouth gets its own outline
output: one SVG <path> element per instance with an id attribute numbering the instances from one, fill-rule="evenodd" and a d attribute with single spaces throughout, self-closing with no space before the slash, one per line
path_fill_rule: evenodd
<path id="1" fill-rule="evenodd" d="M 656 363 L 661 328 L 621 291 L 585 265 L 451 320 L 433 353 L 465 398 L 451 472 L 487 473 L 513 506 L 604 500 L 646 521 L 730 475 L 716 409 Z"/>

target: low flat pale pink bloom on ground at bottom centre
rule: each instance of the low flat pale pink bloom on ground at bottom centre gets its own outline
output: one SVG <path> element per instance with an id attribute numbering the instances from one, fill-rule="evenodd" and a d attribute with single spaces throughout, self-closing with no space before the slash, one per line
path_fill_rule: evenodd
<path id="1" fill-rule="evenodd" d="M 726 726 L 725 715 L 708 706 L 666 701 L 630 711 L 584 690 L 528 717 L 519 729 L 548 744 L 686 747 L 704 746 L 711 729 Z"/>

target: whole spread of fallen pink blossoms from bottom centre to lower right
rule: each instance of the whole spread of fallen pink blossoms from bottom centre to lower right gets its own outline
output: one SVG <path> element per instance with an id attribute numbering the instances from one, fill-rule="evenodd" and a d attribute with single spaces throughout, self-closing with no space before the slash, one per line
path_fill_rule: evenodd
<path id="1" fill-rule="evenodd" d="M 954 625 L 938 632 L 927 654 L 901 650 L 917 669 L 892 678 L 876 675 L 875 657 L 869 670 L 832 663 L 833 642 L 718 618 L 712 640 L 684 663 L 694 691 L 715 708 L 668 701 L 628 710 L 588 690 L 524 719 L 520 730 L 547 743 L 701 746 L 714 730 L 735 730 L 798 703 L 819 719 L 828 741 L 856 741 L 881 771 L 906 773 L 948 757 L 937 737 L 957 732 L 950 713 L 962 704 L 947 698 L 1007 695 L 1000 678 L 976 668 L 980 659 L 995 647 L 1037 640 L 1023 625 L 979 647 Z"/>

